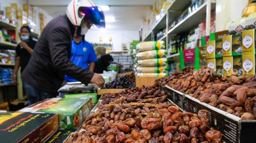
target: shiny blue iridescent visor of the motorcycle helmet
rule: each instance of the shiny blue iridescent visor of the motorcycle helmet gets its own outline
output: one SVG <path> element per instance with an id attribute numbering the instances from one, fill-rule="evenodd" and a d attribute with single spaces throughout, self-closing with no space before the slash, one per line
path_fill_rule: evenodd
<path id="1" fill-rule="evenodd" d="M 79 7 L 78 12 L 80 18 L 84 16 L 97 27 L 105 28 L 105 16 L 100 7 Z"/>

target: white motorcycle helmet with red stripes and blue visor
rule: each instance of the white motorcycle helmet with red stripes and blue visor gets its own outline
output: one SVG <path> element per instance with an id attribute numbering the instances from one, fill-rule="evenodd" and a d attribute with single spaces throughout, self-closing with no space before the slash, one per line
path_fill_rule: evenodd
<path id="1" fill-rule="evenodd" d="M 81 28 L 86 18 L 99 28 L 105 28 L 105 16 L 100 7 L 97 7 L 91 0 L 72 0 L 66 11 L 69 21 Z"/>

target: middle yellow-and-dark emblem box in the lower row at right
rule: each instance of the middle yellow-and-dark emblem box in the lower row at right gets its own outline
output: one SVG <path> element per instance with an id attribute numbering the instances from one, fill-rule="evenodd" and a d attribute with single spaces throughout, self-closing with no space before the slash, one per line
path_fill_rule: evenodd
<path id="1" fill-rule="evenodd" d="M 241 55 L 223 57 L 223 75 L 231 76 L 232 71 L 238 71 L 238 75 L 243 75 Z"/>

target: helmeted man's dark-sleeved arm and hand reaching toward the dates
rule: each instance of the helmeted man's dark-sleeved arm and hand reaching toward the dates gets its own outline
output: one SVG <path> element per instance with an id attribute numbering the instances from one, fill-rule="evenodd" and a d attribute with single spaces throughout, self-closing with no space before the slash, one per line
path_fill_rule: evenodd
<path id="1" fill-rule="evenodd" d="M 72 36 L 65 30 L 64 27 L 58 27 L 51 31 L 48 36 L 49 49 L 54 68 L 85 85 L 92 82 L 102 87 L 104 79 L 101 75 L 80 68 L 69 60 L 68 50 L 69 46 L 71 46 L 70 42 Z"/>

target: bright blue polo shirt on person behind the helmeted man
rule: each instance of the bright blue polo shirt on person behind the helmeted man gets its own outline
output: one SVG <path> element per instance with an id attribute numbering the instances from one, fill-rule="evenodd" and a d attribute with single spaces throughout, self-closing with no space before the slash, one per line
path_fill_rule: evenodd
<path id="1" fill-rule="evenodd" d="M 71 56 L 70 60 L 80 68 L 89 68 L 89 63 L 98 61 L 93 45 L 83 40 L 80 43 L 76 43 L 72 40 Z M 77 80 L 65 75 L 67 82 L 75 82 Z"/>

